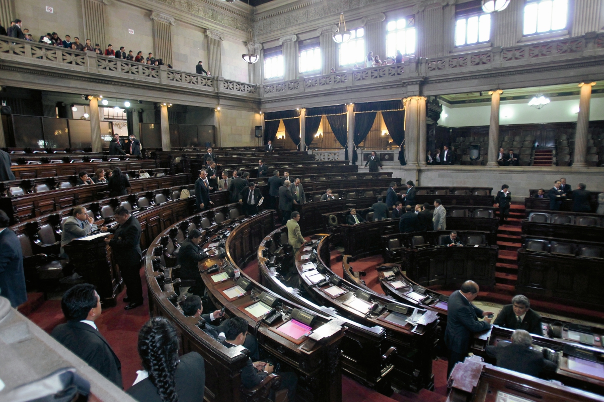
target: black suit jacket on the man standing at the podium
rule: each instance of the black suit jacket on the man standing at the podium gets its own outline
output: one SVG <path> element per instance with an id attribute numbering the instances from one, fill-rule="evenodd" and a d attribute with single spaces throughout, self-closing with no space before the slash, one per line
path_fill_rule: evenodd
<path id="1" fill-rule="evenodd" d="M 117 228 L 109 229 L 114 233 L 114 238 L 109 242 L 113 249 L 113 257 L 117 265 L 138 266 L 140 268 L 141 258 L 141 224 L 134 215 Z"/>

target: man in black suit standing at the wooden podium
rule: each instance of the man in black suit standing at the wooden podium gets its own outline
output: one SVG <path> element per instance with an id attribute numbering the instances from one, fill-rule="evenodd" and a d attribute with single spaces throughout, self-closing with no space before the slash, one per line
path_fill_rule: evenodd
<path id="1" fill-rule="evenodd" d="M 102 231 L 113 233 L 113 239 L 105 239 L 112 251 L 114 262 L 120 267 L 120 274 L 126 284 L 127 297 L 125 303 L 130 303 L 125 310 L 134 309 L 143 306 L 143 284 L 141 283 L 141 224 L 137 218 L 132 216 L 124 207 L 117 207 L 114 212 L 117 227 L 108 229 L 101 228 Z"/>

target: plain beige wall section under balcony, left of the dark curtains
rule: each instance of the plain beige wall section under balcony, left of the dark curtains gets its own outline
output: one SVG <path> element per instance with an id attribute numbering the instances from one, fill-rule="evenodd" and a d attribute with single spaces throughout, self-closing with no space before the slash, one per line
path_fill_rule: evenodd
<path id="1" fill-rule="evenodd" d="M 220 110 L 220 146 L 257 146 L 254 126 L 260 125 L 260 115 L 252 111 Z"/>

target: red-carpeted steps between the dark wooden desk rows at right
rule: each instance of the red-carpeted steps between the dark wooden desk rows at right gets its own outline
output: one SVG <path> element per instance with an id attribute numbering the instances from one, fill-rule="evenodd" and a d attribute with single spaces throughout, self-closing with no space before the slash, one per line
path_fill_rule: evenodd
<path id="1" fill-rule="evenodd" d="M 496 211 L 499 216 L 499 211 Z M 525 219 L 523 204 L 510 207 L 510 216 L 505 225 L 497 230 L 499 252 L 495 266 L 495 289 L 501 293 L 513 293 L 518 279 L 518 249 L 521 248 L 521 222 Z"/>

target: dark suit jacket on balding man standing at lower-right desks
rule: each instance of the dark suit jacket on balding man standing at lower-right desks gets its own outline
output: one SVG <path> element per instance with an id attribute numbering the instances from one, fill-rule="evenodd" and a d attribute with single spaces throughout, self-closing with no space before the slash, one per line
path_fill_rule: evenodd
<path id="1" fill-rule="evenodd" d="M 470 303 L 460 291 L 449 296 L 445 344 L 457 353 L 466 354 L 474 333 L 490 328 L 486 321 L 478 321 L 483 316 L 483 310 Z"/>

